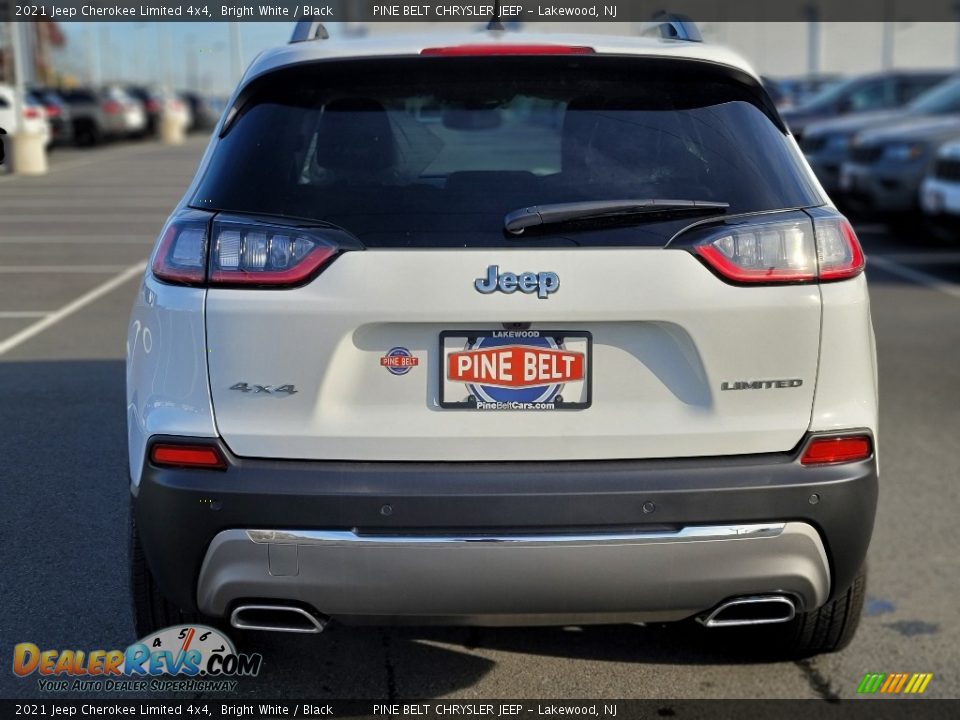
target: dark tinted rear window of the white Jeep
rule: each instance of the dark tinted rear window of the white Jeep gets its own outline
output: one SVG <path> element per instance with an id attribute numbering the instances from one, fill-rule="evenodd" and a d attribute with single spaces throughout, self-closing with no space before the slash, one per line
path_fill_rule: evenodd
<path id="1" fill-rule="evenodd" d="M 244 93 L 192 204 L 332 222 L 368 247 L 501 244 L 506 213 L 550 203 L 822 204 L 762 90 L 731 73 L 609 57 L 298 66 Z M 659 244 L 691 221 L 545 234 Z"/>

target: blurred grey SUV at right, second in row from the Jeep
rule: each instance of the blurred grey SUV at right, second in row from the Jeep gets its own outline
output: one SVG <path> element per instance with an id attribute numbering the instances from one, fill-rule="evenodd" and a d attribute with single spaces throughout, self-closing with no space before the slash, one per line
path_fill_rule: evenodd
<path id="1" fill-rule="evenodd" d="M 855 113 L 813 123 L 800 139 L 800 148 L 824 189 L 839 194 L 840 168 L 850 159 L 857 133 L 942 115 L 960 115 L 960 76 L 940 83 L 899 110 Z"/>

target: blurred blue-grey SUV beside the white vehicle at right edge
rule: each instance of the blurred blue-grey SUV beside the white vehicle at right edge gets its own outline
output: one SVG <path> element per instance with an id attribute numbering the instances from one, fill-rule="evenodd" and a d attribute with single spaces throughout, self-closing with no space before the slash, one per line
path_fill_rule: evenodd
<path id="1" fill-rule="evenodd" d="M 849 208 L 897 224 L 920 209 L 920 185 L 944 143 L 960 139 L 960 115 L 925 116 L 854 139 L 840 169 L 840 198 Z"/>

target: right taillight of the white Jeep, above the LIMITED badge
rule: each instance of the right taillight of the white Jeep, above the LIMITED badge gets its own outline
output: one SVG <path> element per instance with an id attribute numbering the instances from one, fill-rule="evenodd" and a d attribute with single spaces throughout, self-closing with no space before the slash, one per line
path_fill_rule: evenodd
<path id="1" fill-rule="evenodd" d="M 738 283 L 841 280 L 865 264 L 850 223 L 836 216 L 724 227 L 693 249 L 721 277 Z"/>

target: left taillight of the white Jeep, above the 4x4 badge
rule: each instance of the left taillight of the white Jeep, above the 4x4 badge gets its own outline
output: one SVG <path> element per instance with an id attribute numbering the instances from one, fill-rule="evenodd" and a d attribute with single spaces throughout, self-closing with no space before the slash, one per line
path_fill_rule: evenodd
<path id="1" fill-rule="evenodd" d="M 152 271 L 181 285 L 298 285 L 340 251 L 333 240 L 303 228 L 217 221 L 174 220 L 164 229 Z"/>

